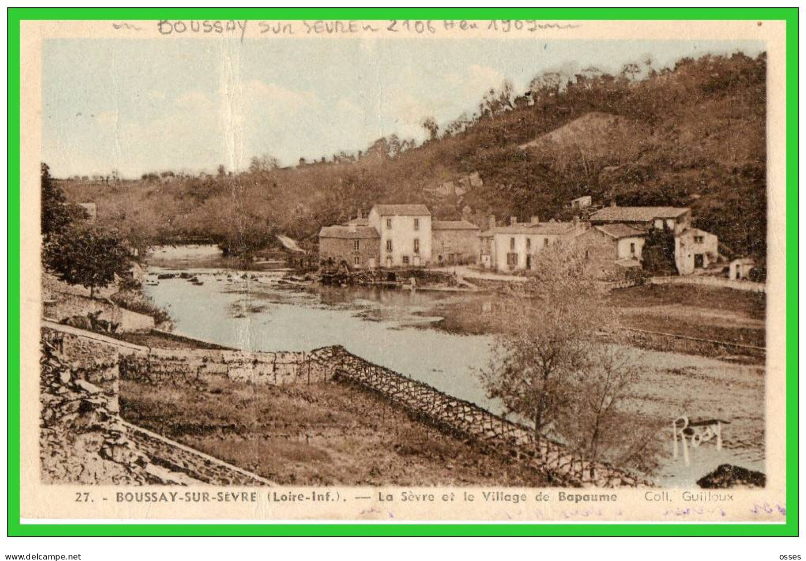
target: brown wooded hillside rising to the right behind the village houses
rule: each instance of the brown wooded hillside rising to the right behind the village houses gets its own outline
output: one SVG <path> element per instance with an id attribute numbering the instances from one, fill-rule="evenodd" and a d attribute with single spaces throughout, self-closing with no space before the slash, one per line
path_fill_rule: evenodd
<path id="1" fill-rule="evenodd" d="M 320 226 L 376 202 L 425 202 L 438 218 L 568 218 L 590 194 L 619 205 L 692 206 L 695 226 L 729 255 L 764 259 L 767 244 L 766 55 L 679 60 L 661 71 L 625 66 L 544 73 L 530 94 L 491 90 L 416 146 L 393 135 L 367 151 L 293 168 L 273 164 L 216 177 L 147 174 L 138 181 L 60 181 L 72 202 L 96 202 L 98 223 L 133 239 L 183 236 L 237 252 L 283 232 L 309 246 Z M 638 76 L 641 76 L 638 78 Z M 427 128 L 427 127 L 426 127 Z M 461 196 L 434 189 L 478 172 Z"/>

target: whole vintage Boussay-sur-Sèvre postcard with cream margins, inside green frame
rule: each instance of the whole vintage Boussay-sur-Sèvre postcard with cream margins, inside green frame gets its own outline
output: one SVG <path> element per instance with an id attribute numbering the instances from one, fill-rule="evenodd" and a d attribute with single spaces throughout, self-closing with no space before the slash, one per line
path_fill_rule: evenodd
<path id="1" fill-rule="evenodd" d="M 21 516 L 785 522 L 785 43 L 23 21 Z"/>

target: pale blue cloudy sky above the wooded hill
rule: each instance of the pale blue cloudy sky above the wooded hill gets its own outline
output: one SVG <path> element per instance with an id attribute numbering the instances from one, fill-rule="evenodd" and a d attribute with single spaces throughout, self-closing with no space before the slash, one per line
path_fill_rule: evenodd
<path id="1" fill-rule="evenodd" d="M 55 177 L 139 177 L 296 164 L 355 152 L 422 119 L 472 114 L 505 79 L 543 70 L 618 73 L 648 57 L 762 52 L 758 42 L 537 39 L 48 39 L 43 160 Z"/>

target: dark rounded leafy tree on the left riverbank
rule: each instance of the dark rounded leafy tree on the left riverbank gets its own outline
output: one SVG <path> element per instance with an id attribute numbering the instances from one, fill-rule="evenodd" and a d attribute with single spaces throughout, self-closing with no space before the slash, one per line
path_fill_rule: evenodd
<path id="1" fill-rule="evenodd" d="M 110 285 L 131 267 L 131 256 L 123 237 L 94 226 L 73 226 L 52 235 L 44 245 L 42 262 L 69 285 L 95 289 Z"/>

